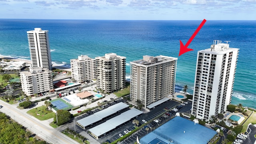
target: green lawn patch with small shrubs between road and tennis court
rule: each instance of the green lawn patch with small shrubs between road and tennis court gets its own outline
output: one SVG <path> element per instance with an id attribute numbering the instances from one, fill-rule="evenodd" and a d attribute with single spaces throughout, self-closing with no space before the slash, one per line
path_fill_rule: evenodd
<path id="1" fill-rule="evenodd" d="M 47 112 L 46 106 L 40 106 L 38 108 L 33 108 L 32 110 L 29 110 L 27 113 L 31 116 L 34 116 L 38 120 L 48 120 L 50 118 L 53 118 L 55 116 L 54 112 Z M 37 115 L 40 114 L 40 115 Z"/>

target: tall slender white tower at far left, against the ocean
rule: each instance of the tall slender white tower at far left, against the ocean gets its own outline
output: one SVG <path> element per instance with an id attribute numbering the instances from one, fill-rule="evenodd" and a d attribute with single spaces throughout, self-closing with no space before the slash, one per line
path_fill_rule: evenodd
<path id="1" fill-rule="evenodd" d="M 27 31 L 27 35 L 32 66 L 52 70 L 48 30 L 35 28 Z"/>

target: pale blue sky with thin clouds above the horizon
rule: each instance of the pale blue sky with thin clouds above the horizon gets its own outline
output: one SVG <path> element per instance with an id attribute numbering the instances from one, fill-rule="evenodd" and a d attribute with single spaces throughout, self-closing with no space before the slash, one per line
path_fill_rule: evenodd
<path id="1" fill-rule="evenodd" d="M 256 0 L 0 0 L 0 18 L 256 20 Z"/>

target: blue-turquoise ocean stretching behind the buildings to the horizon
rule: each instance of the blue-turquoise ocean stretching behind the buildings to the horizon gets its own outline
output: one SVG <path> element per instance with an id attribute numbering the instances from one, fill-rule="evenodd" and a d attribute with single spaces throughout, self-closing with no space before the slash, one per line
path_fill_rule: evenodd
<path id="1" fill-rule="evenodd" d="M 26 31 L 49 30 L 53 64 L 70 66 L 79 55 L 91 58 L 116 53 L 130 62 L 143 55 L 178 57 L 180 40 L 186 44 L 202 20 L 34 20 L 0 19 L 0 54 L 30 60 Z M 193 93 L 198 50 L 213 40 L 230 40 L 240 48 L 232 104 L 256 108 L 256 21 L 208 20 L 188 46 L 194 49 L 178 57 L 176 91 L 188 85 Z"/>

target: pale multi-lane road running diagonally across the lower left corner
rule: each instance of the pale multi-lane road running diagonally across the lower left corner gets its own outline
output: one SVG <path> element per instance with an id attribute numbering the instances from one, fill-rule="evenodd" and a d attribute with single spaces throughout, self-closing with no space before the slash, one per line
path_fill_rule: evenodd
<path id="1" fill-rule="evenodd" d="M 10 116 L 13 120 L 22 124 L 22 126 L 28 128 L 32 134 L 36 134 L 40 138 L 44 139 L 47 143 L 52 144 L 79 144 L 78 142 L 72 140 L 68 136 L 62 134 L 61 132 L 52 128 L 49 124 L 51 120 L 40 121 L 33 116 L 30 116 L 26 112 L 27 109 L 20 110 L 16 108 L 18 104 L 7 104 L 0 100 L 0 105 L 3 108 L 0 108 L 0 112 L 5 113 Z M 39 105 L 39 104 L 38 104 Z"/>

